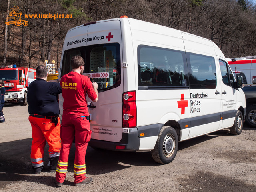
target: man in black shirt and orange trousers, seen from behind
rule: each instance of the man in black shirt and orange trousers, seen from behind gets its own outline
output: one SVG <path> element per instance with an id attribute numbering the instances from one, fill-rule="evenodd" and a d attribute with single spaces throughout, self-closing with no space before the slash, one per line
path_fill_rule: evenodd
<path id="1" fill-rule="evenodd" d="M 44 147 L 49 144 L 50 172 L 55 172 L 60 155 L 60 114 L 58 94 L 61 86 L 57 82 L 47 82 L 47 68 L 36 68 L 36 80 L 28 87 L 28 112 L 32 127 L 31 163 L 35 174 L 40 174 L 44 166 Z"/>

